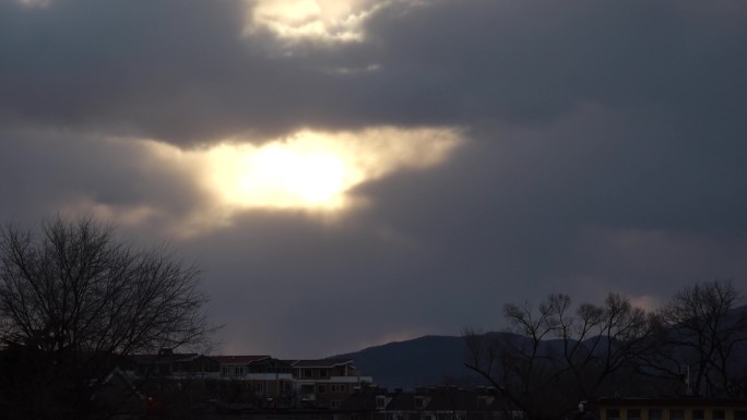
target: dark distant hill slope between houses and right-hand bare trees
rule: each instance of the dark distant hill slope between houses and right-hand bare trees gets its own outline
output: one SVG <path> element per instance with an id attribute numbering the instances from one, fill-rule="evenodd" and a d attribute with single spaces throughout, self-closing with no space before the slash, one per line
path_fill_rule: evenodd
<path id="1" fill-rule="evenodd" d="M 464 367 L 466 346 L 462 337 L 424 336 L 339 355 L 349 358 L 379 386 L 413 388 L 436 384 L 484 384 Z"/>

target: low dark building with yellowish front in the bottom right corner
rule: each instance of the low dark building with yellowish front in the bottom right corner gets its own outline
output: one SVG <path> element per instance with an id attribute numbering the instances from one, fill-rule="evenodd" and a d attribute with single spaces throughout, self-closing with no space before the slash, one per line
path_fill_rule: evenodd
<path id="1" fill-rule="evenodd" d="M 746 399 L 600 398 L 600 420 L 747 420 Z"/>

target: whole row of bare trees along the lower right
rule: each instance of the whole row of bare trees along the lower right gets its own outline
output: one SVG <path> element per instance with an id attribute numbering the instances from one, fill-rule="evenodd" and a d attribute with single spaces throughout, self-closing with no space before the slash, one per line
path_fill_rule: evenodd
<path id="1" fill-rule="evenodd" d="M 602 396 L 747 397 L 747 307 L 732 281 L 699 283 L 645 311 L 618 293 L 573 305 L 506 304 L 506 333 L 463 333 L 466 367 L 529 419 Z"/>

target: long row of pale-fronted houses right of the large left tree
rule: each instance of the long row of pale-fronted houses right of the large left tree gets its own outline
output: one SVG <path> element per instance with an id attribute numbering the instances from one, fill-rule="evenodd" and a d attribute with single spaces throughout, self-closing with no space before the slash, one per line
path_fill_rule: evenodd
<path id="1" fill-rule="evenodd" d="M 200 356 L 163 349 L 135 355 L 120 367 L 158 405 L 220 403 L 238 410 L 339 409 L 372 384 L 349 359 L 280 360 L 268 355 Z M 150 400 L 150 399 L 149 399 Z"/>

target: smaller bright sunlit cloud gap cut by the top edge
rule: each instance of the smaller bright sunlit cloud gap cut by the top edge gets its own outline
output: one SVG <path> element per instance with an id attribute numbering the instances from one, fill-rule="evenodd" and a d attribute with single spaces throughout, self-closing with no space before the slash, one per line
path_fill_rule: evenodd
<path id="1" fill-rule="evenodd" d="M 371 0 L 250 1 L 247 32 L 261 26 L 290 40 L 361 40 L 363 22 L 384 3 L 386 1 Z"/>

